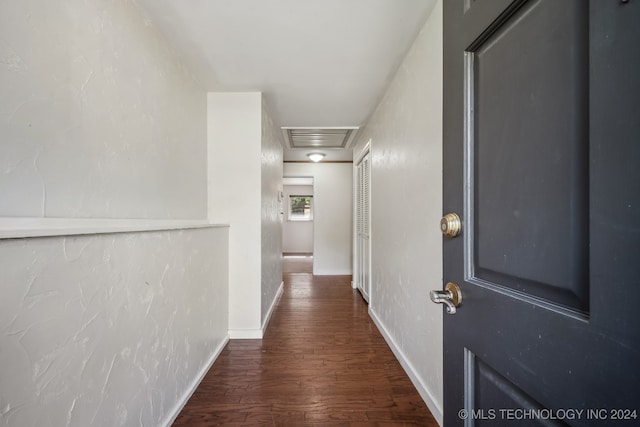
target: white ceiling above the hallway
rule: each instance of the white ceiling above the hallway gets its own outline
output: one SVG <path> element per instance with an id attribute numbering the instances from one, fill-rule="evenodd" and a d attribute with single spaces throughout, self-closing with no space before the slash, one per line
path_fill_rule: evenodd
<path id="1" fill-rule="evenodd" d="M 363 126 L 434 3 L 136 1 L 208 91 L 263 92 L 278 127 Z"/>

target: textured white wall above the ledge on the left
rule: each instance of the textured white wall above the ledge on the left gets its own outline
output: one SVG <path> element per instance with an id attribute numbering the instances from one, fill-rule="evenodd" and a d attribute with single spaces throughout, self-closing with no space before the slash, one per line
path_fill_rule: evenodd
<path id="1" fill-rule="evenodd" d="M 0 135 L 0 216 L 206 216 L 206 94 L 131 0 L 0 2 Z"/>

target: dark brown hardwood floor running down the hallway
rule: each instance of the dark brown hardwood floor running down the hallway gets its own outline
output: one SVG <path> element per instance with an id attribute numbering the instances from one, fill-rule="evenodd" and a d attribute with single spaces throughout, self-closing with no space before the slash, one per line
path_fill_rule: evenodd
<path id="1" fill-rule="evenodd" d="M 351 276 L 288 261 L 265 337 L 230 341 L 174 426 L 437 426 Z"/>

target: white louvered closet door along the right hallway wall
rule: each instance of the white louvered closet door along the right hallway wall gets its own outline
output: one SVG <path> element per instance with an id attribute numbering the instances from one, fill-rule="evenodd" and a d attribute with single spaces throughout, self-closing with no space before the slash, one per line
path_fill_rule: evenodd
<path id="1" fill-rule="evenodd" d="M 356 286 L 366 301 L 371 289 L 371 246 L 370 246 L 370 161 L 365 154 L 357 165 L 358 183 L 356 187 Z"/>

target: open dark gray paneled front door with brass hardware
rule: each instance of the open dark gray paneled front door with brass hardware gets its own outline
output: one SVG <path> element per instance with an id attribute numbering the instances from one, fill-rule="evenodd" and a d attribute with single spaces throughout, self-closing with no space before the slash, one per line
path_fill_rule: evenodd
<path id="1" fill-rule="evenodd" d="M 640 1 L 445 0 L 444 37 L 445 425 L 640 425 Z"/>

